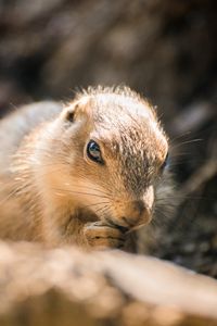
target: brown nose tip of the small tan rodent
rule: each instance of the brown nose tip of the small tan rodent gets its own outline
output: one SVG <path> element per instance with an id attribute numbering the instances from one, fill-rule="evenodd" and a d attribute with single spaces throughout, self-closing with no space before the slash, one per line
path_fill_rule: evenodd
<path id="1" fill-rule="evenodd" d="M 135 200 L 127 204 L 122 220 L 128 227 L 146 224 L 150 221 L 150 210 L 142 200 Z"/>

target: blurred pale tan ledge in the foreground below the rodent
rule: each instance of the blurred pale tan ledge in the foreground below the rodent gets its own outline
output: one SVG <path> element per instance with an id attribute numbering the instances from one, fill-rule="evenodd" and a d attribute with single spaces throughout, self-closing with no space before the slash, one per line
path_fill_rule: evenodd
<path id="1" fill-rule="evenodd" d="M 0 288 L 2 326 L 217 325 L 216 280 L 122 251 L 1 242 Z"/>

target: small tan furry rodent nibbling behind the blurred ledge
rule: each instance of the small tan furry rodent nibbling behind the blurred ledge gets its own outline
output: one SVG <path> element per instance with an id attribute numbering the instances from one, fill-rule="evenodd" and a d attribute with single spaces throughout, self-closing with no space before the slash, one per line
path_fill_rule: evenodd
<path id="1" fill-rule="evenodd" d="M 123 248 L 150 223 L 168 156 L 155 110 L 128 87 L 0 121 L 0 237 Z"/>

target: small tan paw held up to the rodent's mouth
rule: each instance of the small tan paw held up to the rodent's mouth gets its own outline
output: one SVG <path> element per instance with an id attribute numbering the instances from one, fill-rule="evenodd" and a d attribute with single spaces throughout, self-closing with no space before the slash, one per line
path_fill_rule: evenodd
<path id="1" fill-rule="evenodd" d="M 103 224 L 102 222 L 87 223 L 84 235 L 89 247 L 95 249 L 123 248 L 125 235 L 117 228 Z"/>

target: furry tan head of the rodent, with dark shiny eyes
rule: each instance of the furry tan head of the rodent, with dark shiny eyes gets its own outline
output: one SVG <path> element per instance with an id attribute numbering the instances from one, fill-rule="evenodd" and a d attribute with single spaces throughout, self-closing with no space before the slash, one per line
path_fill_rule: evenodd
<path id="1" fill-rule="evenodd" d="M 63 110 L 52 130 L 51 150 L 62 164 L 52 175 L 53 188 L 68 205 L 72 200 L 130 229 L 151 221 L 168 142 L 143 98 L 126 87 L 88 89 Z"/>

